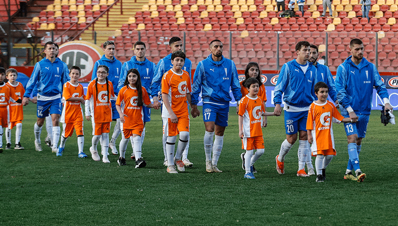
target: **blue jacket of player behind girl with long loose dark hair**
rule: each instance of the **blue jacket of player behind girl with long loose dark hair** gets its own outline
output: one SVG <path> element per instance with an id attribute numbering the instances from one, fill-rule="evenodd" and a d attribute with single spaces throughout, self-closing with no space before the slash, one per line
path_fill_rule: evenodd
<path id="1" fill-rule="evenodd" d="M 149 61 L 146 57 L 144 61 L 138 61 L 137 57 L 133 56 L 129 61 L 123 63 L 117 89 L 120 90 L 124 86 L 127 72 L 132 68 L 136 68 L 138 70 L 141 77 L 142 87 L 146 89 L 148 95 L 152 96 L 150 86 L 155 72 L 155 64 Z"/>

